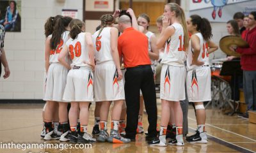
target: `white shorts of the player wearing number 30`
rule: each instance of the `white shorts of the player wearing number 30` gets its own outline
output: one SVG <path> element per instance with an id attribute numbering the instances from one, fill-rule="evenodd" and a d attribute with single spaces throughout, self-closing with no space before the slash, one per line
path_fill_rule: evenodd
<path id="1" fill-rule="evenodd" d="M 67 76 L 67 85 L 63 99 L 65 101 L 93 101 L 92 69 L 81 67 L 71 69 Z"/>

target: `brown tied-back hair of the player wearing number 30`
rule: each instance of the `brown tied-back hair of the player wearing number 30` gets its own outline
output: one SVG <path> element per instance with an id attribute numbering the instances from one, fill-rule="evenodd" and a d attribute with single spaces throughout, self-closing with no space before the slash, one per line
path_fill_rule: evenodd
<path id="1" fill-rule="evenodd" d="M 84 22 L 79 20 L 79 19 L 73 19 L 70 22 L 70 38 L 72 38 L 73 40 L 76 39 L 77 35 L 82 31 L 82 28 L 84 26 Z"/>

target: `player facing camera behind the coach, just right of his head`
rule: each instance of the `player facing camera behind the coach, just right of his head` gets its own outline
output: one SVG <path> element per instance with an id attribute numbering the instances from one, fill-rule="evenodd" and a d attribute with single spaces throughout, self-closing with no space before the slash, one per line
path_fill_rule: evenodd
<path id="1" fill-rule="evenodd" d="M 150 57 L 151 61 L 151 68 L 154 73 L 154 78 L 156 77 L 156 69 L 155 69 L 155 61 L 159 58 L 159 53 L 156 47 L 156 35 L 150 31 L 148 31 L 148 27 L 150 24 L 150 18 L 146 13 L 142 13 L 138 16 L 137 18 L 138 25 L 141 25 L 144 27 L 143 33 L 147 36 L 148 38 L 148 55 Z M 142 117 L 143 117 L 143 108 L 144 108 L 144 103 L 143 103 L 143 96 L 142 93 L 140 93 L 140 112 L 139 112 L 139 119 L 138 119 L 138 128 L 137 128 L 137 133 L 143 133 L 143 125 L 142 125 Z"/>

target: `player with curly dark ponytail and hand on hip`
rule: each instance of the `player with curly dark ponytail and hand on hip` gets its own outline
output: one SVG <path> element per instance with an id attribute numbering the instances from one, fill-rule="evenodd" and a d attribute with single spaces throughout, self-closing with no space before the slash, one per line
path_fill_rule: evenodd
<path id="1" fill-rule="evenodd" d="M 211 24 L 206 18 L 191 15 L 187 20 L 191 33 L 187 55 L 187 91 L 189 102 L 195 104 L 197 130 L 196 134 L 186 137 L 190 143 L 207 143 L 205 132 L 204 101 L 211 101 L 211 69 L 209 54 L 218 49 L 211 41 Z"/>

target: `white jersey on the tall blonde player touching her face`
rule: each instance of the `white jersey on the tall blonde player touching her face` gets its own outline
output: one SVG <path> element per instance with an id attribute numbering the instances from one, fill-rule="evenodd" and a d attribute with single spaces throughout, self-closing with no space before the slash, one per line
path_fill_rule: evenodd
<path id="1" fill-rule="evenodd" d="M 161 63 L 172 66 L 184 66 L 186 52 L 184 49 L 184 31 L 181 24 L 174 23 L 175 33 L 168 38 Z"/>

